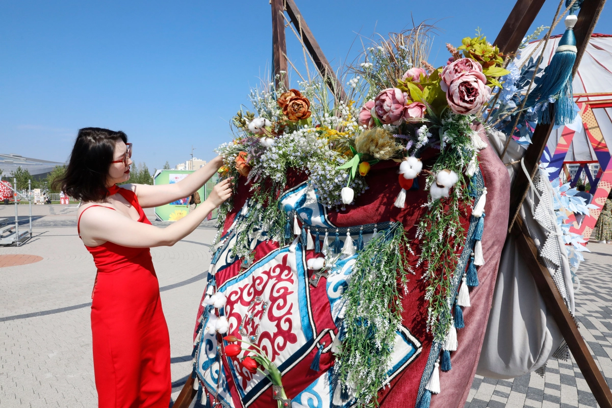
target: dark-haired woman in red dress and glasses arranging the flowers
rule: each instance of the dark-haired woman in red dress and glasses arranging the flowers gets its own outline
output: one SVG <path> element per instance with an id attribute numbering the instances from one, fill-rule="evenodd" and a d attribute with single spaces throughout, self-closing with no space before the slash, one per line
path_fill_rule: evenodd
<path id="1" fill-rule="evenodd" d="M 186 217 L 156 228 L 143 208 L 185 198 L 222 165 L 220 157 L 168 185 L 116 184 L 130 179 L 132 144 L 123 132 L 83 128 L 56 185 L 81 200 L 78 231 L 94 257 L 91 330 L 100 408 L 170 404 L 170 338 L 149 248 L 174 245 L 223 201 L 231 184 L 217 184 Z"/>

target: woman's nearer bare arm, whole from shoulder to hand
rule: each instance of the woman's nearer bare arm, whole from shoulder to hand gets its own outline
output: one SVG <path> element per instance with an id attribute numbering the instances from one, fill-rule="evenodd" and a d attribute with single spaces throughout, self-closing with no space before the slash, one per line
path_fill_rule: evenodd
<path id="1" fill-rule="evenodd" d="M 81 237 L 88 247 L 113 242 L 124 247 L 150 248 L 172 246 L 180 241 L 220 206 L 232 194 L 231 179 L 225 179 L 212 189 L 200 206 L 166 228 L 139 223 L 121 212 L 104 207 L 92 207 L 80 221 Z"/>

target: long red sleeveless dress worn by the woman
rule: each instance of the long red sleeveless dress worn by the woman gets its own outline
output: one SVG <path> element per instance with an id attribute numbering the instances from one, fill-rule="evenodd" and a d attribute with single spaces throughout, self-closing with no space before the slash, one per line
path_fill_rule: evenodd
<path id="1" fill-rule="evenodd" d="M 133 191 L 118 192 L 138 210 L 138 222 L 151 224 Z M 112 242 L 85 248 L 98 269 L 91 332 L 99 408 L 168 408 L 170 336 L 149 248 Z"/>

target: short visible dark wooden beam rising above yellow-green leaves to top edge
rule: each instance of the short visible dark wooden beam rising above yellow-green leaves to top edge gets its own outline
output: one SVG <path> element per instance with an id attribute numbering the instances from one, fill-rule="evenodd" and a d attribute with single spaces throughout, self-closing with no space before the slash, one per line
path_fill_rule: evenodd
<path id="1" fill-rule="evenodd" d="M 494 42 L 494 45 L 499 47 L 502 54 L 517 52 L 518 46 L 521 45 L 521 41 L 543 4 L 544 0 L 517 1 Z"/>

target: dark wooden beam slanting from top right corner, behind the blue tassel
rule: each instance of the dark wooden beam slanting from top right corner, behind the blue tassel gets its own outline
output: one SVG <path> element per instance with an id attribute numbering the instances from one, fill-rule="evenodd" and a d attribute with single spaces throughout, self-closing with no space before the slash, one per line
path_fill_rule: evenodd
<path id="1" fill-rule="evenodd" d="M 591 34 L 595 29 L 595 24 L 597 24 L 597 19 L 602 12 L 605 2 L 606 0 L 585 1 L 583 2 L 583 7 L 580 9 L 580 13 L 578 13 L 578 21 L 574 28 L 576 46 L 578 48 L 576 62 L 574 62 L 573 65 L 574 74 L 578 70 L 578 66 L 580 66 L 584 50 L 586 50 L 586 45 L 591 39 Z M 551 117 L 554 117 L 553 113 L 551 113 Z M 531 145 L 528 147 L 524 157 L 524 165 L 531 179 L 535 176 L 535 171 L 537 171 L 540 157 L 542 157 L 542 152 L 548 141 L 548 136 L 550 136 L 550 132 L 553 130 L 553 125 L 553 123 L 538 124 L 535 127 L 534 134 L 531 138 Z M 512 224 L 517 219 L 518 212 L 527 196 L 528 190 L 529 180 L 527 179 L 527 175 L 524 171 L 518 171 L 510 190 L 510 220 L 508 223 L 508 231 L 512 230 Z"/>

